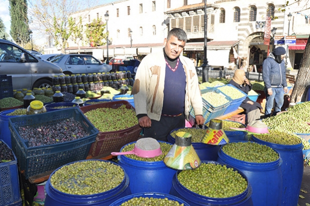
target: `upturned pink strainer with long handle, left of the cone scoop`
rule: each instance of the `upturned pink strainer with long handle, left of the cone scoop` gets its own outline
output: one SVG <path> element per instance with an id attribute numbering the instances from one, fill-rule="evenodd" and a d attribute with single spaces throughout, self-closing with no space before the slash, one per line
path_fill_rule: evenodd
<path id="1" fill-rule="evenodd" d="M 134 144 L 134 148 L 128 152 L 112 152 L 111 155 L 136 155 L 143 158 L 153 158 L 161 155 L 160 145 L 154 138 L 141 138 Z"/>

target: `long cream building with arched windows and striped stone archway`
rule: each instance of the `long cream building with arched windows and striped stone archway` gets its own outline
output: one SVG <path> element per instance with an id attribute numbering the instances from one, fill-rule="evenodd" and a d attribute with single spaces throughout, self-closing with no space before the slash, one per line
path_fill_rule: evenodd
<path id="1" fill-rule="evenodd" d="M 262 61 L 277 46 L 275 38 L 296 36 L 296 45 L 282 46 L 288 50 L 287 68 L 298 69 L 310 33 L 310 21 L 305 14 L 307 6 L 305 0 L 291 2 L 289 6 L 283 5 L 282 0 L 208 0 L 206 57 L 209 65 L 259 72 Z M 105 13 L 108 13 L 107 21 Z M 162 49 L 167 32 L 179 27 L 186 31 L 188 38 L 183 55 L 200 66 L 204 58 L 204 14 L 204 0 L 119 0 L 98 5 L 71 16 L 75 19 L 81 16 L 83 25 L 95 18 L 107 23 L 108 52 L 106 44 L 91 47 L 90 43 L 80 43 L 78 49 L 69 40 L 66 53 L 79 50 L 102 61 L 107 53 L 109 58 L 133 55 L 141 59 Z M 266 27 L 269 38 L 265 36 Z"/>

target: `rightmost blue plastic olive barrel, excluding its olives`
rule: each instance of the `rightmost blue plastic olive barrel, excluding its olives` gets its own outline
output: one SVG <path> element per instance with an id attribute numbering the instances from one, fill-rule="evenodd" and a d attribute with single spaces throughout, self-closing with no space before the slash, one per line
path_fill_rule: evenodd
<path id="1" fill-rule="evenodd" d="M 302 143 L 298 145 L 279 145 L 262 141 L 255 136 L 253 142 L 267 145 L 276 150 L 283 161 L 282 170 L 282 199 L 281 206 L 296 206 L 298 204 L 299 191 L 303 175 Z"/>

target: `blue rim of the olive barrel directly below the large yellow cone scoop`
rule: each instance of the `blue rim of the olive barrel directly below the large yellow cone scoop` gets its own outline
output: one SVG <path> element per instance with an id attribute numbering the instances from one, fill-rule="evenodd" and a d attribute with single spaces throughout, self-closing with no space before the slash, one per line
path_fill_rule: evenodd
<path id="1" fill-rule="evenodd" d="M 236 204 L 236 203 L 243 201 L 244 199 L 247 200 L 247 199 L 251 198 L 252 187 L 248 181 L 248 178 L 245 176 L 245 174 L 243 172 L 241 172 L 240 170 L 238 170 L 237 168 L 235 168 L 232 165 L 228 165 L 228 164 L 220 163 L 220 162 L 216 162 L 216 161 L 201 161 L 201 164 L 202 163 L 218 164 L 218 165 L 226 166 L 228 168 L 232 168 L 234 171 L 237 171 L 242 176 L 242 178 L 244 178 L 246 180 L 246 182 L 247 182 L 246 189 L 241 194 L 239 194 L 237 196 L 229 197 L 229 198 L 210 198 L 210 197 L 202 196 L 202 195 L 196 194 L 196 193 L 188 190 L 182 184 L 180 184 L 180 182 L 177 179 L 177 175 L 182 171 L 177 171 L 175 173 L 175 175 L 173 176 L 173 179 L 172 179 L 173 180 L 172 181 L 172 187 L 179 195 L 182 195 L 182 194 L 185 195 L 187 193 L 187 194 L 190 194 L 191 196 L 193 196 L 194 199 L 199 199 L 199 200 L 202 200 L 203 202 L 210 202 L 210 203 L 216 203 L 216 202 L 220 201 L 220 203 L 222 203 L 222 205 L 226 205 L 225 202 L 228 202 L 228 201 L 229 201 L 229 204 Z M 188 196 L 187 196 L 187 199 L 189 199 Z"/>

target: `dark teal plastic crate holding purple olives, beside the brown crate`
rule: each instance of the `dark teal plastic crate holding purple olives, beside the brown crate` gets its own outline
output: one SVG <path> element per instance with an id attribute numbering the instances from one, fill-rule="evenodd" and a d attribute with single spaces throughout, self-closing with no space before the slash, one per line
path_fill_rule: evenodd
<path id="1" fill-rule="evenodd" d="M 28 147 L 28 141 L 19 135 L 19 127 L 54 126 L 70 118 L 79 122 L 89 135 L 67 142 L 35 147 Z M 8 121 L 12 150 L 26 179 L 45 172 L 51 173 L 64 164 L 86 159 L 90 146 L 99 132 L 78 108 L 12 117 Z M 62 132 L 61 129 L 60 132 Z"/>

